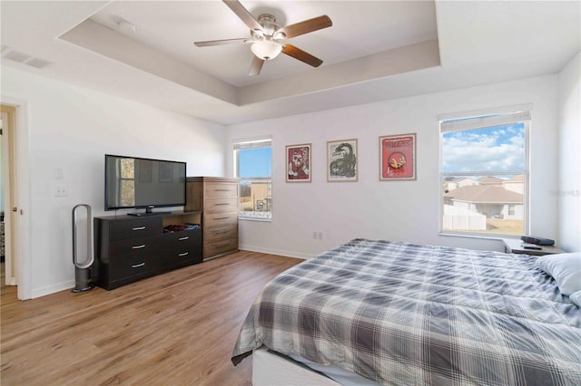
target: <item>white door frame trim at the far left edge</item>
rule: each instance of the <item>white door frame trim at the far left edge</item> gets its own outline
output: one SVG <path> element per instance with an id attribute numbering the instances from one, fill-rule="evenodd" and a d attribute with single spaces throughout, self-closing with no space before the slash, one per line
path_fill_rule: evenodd
<path id="1" fill-rule="evenodd" d="M 19 300 L 32 298 L 32 259 L 31 259 L 31 205 L 30 205 L 30 175 L 29 175 L 29 106 L 27 101 L 0 96 L 2 104 L 15 108 L 15 124 L 13 139 L 15 140 L 15 202 L 13 207 L 18 208 L 18 215 L 15 220 L 15 228 L 11 229 L 15 234 L 13 238 L 13 251 L 18 251 L 17 261 L 13 259 L 12 264 L 16 269 L 17 296 Z M 12 208 L 7 208 L 11 210 Z"/>

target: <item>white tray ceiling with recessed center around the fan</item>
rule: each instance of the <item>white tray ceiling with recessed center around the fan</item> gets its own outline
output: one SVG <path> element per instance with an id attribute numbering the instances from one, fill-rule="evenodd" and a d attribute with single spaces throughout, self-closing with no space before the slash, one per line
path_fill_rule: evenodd
<path id="1" fill-rule="evenodd" d="M 250 36 L 222 1 L 2 1 L 1 64 L 232 124 L 555 73 L 581 47 L 578 1 L 241 4 L 281 25 L 329 15 L 289 41 L 323 64 L 281 54 L 249 77 L 250 45 L 195 47 Z"/>

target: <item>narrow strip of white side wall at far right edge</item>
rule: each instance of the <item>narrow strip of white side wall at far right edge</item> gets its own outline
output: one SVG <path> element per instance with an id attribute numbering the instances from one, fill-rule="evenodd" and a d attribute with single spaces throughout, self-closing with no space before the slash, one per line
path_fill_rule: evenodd
<path id="1" fill-rule="evenodd" d="M 558 240 L 581 251 L 581 53 L 559 74 Z"/>

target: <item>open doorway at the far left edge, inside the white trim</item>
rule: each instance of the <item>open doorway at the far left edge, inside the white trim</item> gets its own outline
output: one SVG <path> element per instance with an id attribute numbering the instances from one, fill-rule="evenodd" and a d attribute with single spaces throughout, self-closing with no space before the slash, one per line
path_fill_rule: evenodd
<path id="1" fill-rule="evenodd" d="M 0 108 L 0 255 L 2 285 L 17 285 L 18 254 L 16 248 L 17 207 L 15 205 L 15 116 L 16 108 Z"/>

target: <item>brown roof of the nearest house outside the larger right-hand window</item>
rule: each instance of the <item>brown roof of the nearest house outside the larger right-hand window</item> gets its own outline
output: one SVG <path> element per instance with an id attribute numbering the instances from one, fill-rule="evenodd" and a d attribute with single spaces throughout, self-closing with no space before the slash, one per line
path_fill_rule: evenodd
<path id="1" fill-rule="evenodd" d="M 492 185 L 470 185 L 457 188 L 450 190 L 444 197 L 476 204 L 522 204 L 524 198 L 520 193 Z"/>

